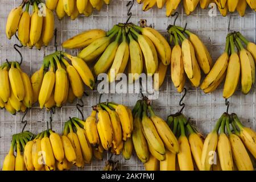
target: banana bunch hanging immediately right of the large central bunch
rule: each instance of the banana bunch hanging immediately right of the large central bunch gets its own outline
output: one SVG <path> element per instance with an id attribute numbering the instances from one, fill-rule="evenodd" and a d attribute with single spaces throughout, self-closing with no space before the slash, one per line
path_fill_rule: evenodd
<path id="1" fill-rule="evenodd" d="M 208 74 L 212 68 L 212 57 L 207 47 L 197 35 L 181 27 L 170 26 L 168 33 L 170 44 L 172 40 L 175 43 L 171 54 L 171 78 L 174 86 L 178 92 L 183 92 L 187 76 L 191 84 L 198 87 L 201 81 L 201 70 Z"/>

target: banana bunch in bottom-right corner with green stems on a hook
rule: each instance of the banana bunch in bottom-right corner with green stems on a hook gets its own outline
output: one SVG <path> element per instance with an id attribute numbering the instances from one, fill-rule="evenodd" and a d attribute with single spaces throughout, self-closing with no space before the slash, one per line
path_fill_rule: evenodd
<path id="1" fill-rule="evenodd" d="M 232 133 L 230 125 L 232 125 L 234 133 Z M 213 131 L 205 138 L 201 170 L 209 171 L 218 168 L 222 171 L 253 171 L 255 137 L 255 131 L 243 126 L 236 114 L 222 114 Z M 217 160 L 214 160 L 216 155 Z M 250 158 L 250 155 L 253 157 Z"/>

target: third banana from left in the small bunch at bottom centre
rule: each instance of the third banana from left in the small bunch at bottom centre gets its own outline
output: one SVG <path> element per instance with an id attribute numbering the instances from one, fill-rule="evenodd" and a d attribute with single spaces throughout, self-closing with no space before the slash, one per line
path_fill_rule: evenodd
<path id="1" fill-rule="evenodd" d="M 101 104 L 101 107 L 103 107 L 108 113 L 109 113 L 109 118 L 112 124 L 113 128 L 113 147 L 117 148 L 119 144 L 122 142 L 122 127 L 121 127 L 121 122 L 118 117 L 117 112 L 114 110 L 111 110 L 108 106 L 105 104 Z"/>

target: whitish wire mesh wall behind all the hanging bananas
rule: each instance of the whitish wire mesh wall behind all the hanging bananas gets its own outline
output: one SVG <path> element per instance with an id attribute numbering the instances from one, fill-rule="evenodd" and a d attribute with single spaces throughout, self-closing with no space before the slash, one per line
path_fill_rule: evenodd
<path id="1" fill-rule="evenodd" d="M 5 35 L 5 24 L 7 15 L 10 10 L 18 6 L 20 0 L 1 0 L 0 1 L 0 24 L 1 24 L 1 39 L 0 39 L 0 61 L 3 63 L 6 59 L 10 61 L 19 60 L 19 55 L 16 53 L 13 45 L 18 41 L 13 37 L 8 40 Z M 126 22 L 127 18 L 127 4 L 125 0 L 113 0 L 109 6 L 104 6 L 100 12 L 94 11 L 93 15 L 89 18 L 85 16 L 79 16 L 76 20 L 71 20 L 69 17 L 65 17 L 59 21 L 55 16 L 55 27 L 57 28 L 57 43 L 58 49 L 61 50 L 61 42 L 71 38 L 79 32 L 88 30 L 91 28 L 102 28 L 103 30 L 109 30 L 114 24 L 119 22 Z M 177 19 L 176 24 L 184 26 L 188 23 L 187 28 L 192 32 L 195 32 L 207 45 L 213 60 L 215 61 L 218 56 L 221 55 L 225 47 L 225 37 L 228 33 L 229 18 L 223 17 L 216 11 L 216 15 L 209 16 L 208 10 L 201 10 L 197 8 L 192 15 L 187 16 L 184 14 L 182 6 L 177 9 L 180 16 Z M 156 30 L 166 34 L 166 28 L 168 24 L 174 22 L 174 18 L 166 18 L 165 9 L 158 10 L 156 8 L 147 12 L 142 11 L 142 5 L 134 4 L 131 10 L 133 16 L 130 22 L 138 23 L 140 19 L 146 19 L 147 25 L 154 27 Z M 251 42 L 255 42 L 255 12 L 247 9 L 244 18 L 241 18 L 238 14 L 232 14 L 230 20 L 230 31 L 241 31 Z M 30 50 L 28 48 L 22 48 L 23 55 L 22 69 L 28 74 L 32 74 L 37 71 L 41 64 L 44 55 L 55 51 L 54 43 L 50 44 L 47 48 L 42 48 L 41 51 L 35 48 Z M 77 51 L 65 50 L 72 55 L 77 55 Z M 192 88 L 191 84 L 187 83 L 185 86 L 188 89 L 187 96 L 184 99 L 185 109 L 183 113 L 187 117 L 191 117 L 192 122 L 198 129 L 204 134 L 209 133 L 212 130 L 214 122 L 220 117 L 224 111 L 226 111 L 225 100 L 222 97 L 222 86 L 212 94 L 204 94 L 200 89 Z M 88 96 L 84 96 L 84 107 L 82 112 L 87 117 L 90 114 L 91 106 L 97 104 L 99 100 L 99 94 L 97 90 L 86 90 Z M 129 107 L 133 107 L 135 102 L 140 98 L 139 94 L 104 94 L 101 101 L 109 99 L 109 101 L 117 102 L 119 104 L 125 104 Z M 175 113 L 180 109 L 179 100 L 181 94 L 176 92 L 176 88 L 172 84 L 170 77 L 170 68 L 166 80 L 162 88 L 160 89 L 158 100 L 152 101 L 152 105 L 156 110 L 156 113 L 162 118 L 167 118 L 167 115 Z M 241 89 L 238 88 L 237 92 L 232 98 L 229 99 L 230 107 L 229 112 L 237 113 L 242 122 L 248 126 L 256 129 L 255 127 L 255 89 L 251 90 L 246 96 L 241 93 Z M 0 167 L 2 168 L 3 159 L 9 151 L 11 136 L 15 133 L 19 133 L 22 130 L 22 123 L 20 122 L 23 114 L 18 113 L 16 115 L 10 115 L 5 110 L 0 110 Z M 52 128 L 57 133 L 63 131 L 64 122 L 69 117 L 81 117 L 76 109 L 76 102 L 74 104 L 67 104 L 61 109 L 56 109 L 53 114 Z M 28 121 L 28 125 L 25 130 L 30 130 L 32 133 L 39 133 L 46 129 L 46 121 L 49 120 L 49 113 L 45 109 L 40 110 L 39 106 L 33 106 L 25 117 Z M 73 170 L 100 170 L 105 166 L 105 160 L 109 159 L 110 154 L 105 152 L 104 160 L 93 160 L 92 164 L 86 164 L 85 168 L 78 169 L 73 167 Z M 113 156 L 114 160 L 119 160 L 119 169 L 121 170 L 143 170 L 143 164 L 133 154 L 130 160 L 122 159 L 122 155 Z"/>

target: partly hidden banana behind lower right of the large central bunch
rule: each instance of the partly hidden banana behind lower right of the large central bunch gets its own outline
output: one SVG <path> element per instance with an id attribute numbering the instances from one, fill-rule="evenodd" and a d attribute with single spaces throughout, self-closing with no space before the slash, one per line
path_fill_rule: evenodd
<path id="1" fill-rule="evenodd" d="M 164 65 L 161 61 L 158 64 L 158 70 L 154 74 L 154 89 L 159 90 L 159 88 L 163 85 L 164 79 L 166 78 L 167 65 Z"/>

